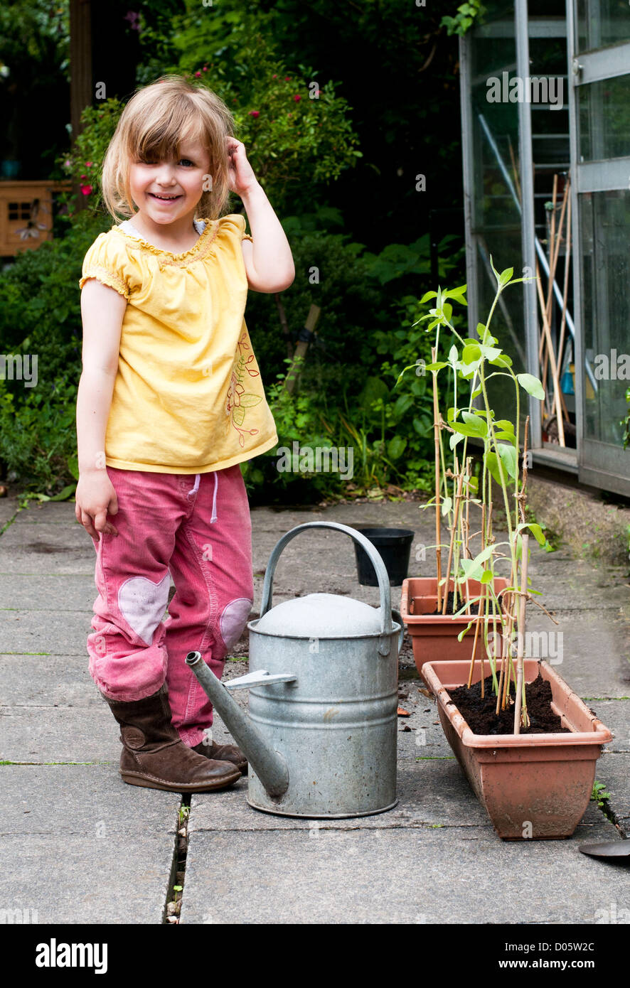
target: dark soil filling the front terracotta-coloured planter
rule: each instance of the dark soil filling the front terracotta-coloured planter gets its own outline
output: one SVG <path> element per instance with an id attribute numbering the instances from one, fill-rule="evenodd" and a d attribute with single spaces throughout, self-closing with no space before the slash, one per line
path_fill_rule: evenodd
<path id="1" fill-rule="evenodd" d="M 514 683 L 510 683 L 510 697 L 515 695 Z M 474 734 L 513 734 L 514 733 L 514 704 L 510 703 L 498 716 L 495 713 L 496 697 L 493 693 L 493 677 L 484 680 L 484 697 L 482 685 L 474 683 L 458 686 L 449 690 L 451 702 L 460 711 Z M 521 734 L 570 734 L 568 727 L 562 726 L 561 718 L 551 708 L 551 686 L 540 673 L 532 683 L 525 684 L 525 700 L 530 719 L 529 727 L 522 727 Z"/>

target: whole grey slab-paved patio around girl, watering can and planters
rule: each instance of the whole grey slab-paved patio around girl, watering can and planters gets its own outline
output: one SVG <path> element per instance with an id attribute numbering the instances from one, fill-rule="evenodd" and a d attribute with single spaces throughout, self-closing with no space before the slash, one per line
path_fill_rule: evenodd
<path id="1" fill-rule="evenodd" d="M 11 511 L 0 501 L 0 529 Z M 409 572 L 430 574 L 421 547 L 433 540 L 432 520 L 417 504 L 256 508 L 254 615 L 278 538 L 316 520 L 410 528 Z M 118 774 L 119 728 L 87 671 L 94 560 L 71 503 L 32 504 L 0 536 L 0 760 L 19 763 L 0 766 L 13 774 L 0 777 L 0 840 L 6 860 L 20 863 L 5 869 L 0 891 L 13 908 L 38 909 L 39 922 L 161 923 L 179 796 L 126 785 Z M 530 627 L 563 632 L 561 675 L 615 734 L 596 778 L 628 833 L 630 700 L 609 699 L 630 696 L 627 576 L 538 548 L 531 572 L 560 623 L 532 610 Z M 357 583 L 350 539 L 323 530 L 287 546 L 274 603 L 315 592 L 379 602 L 377 588 Z M 394 607 L 400 596 L 392 588 Z M 50 654 L 24 654 L 31 651 Z M 398 806 L 315 822 L 252 810 L 245 780 L 194 796 L 182 922 L 593 923 L 611 902 L 630 907 L 627 870 L 578 851 L 585 841 L 620 839 L 594 803 L 569 841 L 495 836 L 421 693 L 408 645 L 402 664 L 409 716 L 399 718 Z M 225 678 L 245 670 L 228 662 Z M 234 700 L 246 706 L 246 692 Z M 219 717 L 213 733 L 229 737 Z"/>

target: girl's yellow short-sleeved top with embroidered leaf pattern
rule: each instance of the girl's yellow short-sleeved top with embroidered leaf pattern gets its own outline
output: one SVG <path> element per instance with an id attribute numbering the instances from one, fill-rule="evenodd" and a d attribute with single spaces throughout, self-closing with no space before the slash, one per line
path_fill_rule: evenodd
<path id="1" fill-rule="evenodd" d="M 113 226 L 85 255 L 79 288 L 96 278 L 128 301 L 105 437 L 109 466 L 205 473 L 278 443 L 243 318 L 245 217 L 205 222 L 183 254 Z"/>

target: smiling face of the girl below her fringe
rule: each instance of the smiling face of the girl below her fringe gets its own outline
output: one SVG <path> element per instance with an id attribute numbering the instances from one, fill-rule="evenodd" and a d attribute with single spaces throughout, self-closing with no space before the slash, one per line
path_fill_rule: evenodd
<path id="1" fill-rule="evenodd" d="M 180 157 L 155 164 L 136 159 L 130 168 L 132 198 L 138 212 L 155 223 L 169 225 L 190 213 L 208 182 L 210 156 L 200 141 L 184 141 Z"/>

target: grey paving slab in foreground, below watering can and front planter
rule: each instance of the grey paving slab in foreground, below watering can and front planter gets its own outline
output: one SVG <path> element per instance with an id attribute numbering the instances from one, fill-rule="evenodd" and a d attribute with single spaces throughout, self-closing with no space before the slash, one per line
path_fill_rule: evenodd
<path id="1" fill-rule="evenodd" d="M 531 843 L 483 827 L 193 831 L 181 923 L 595 923 L 630 903 L 627 871 L 578 846 L 615 836 L 601 814 Z"/>

